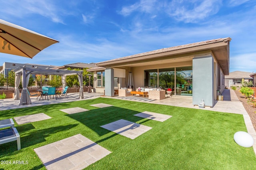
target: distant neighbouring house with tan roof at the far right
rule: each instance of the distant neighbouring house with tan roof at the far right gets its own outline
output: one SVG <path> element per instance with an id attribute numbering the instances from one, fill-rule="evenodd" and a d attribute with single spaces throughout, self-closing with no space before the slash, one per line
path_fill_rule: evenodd
<path id="1" fill-rule="evenodd" d="M 252 74 L 252 72 L 230 72 L 229 75 L 225 76 L 225 86 L 242 86 L 242 79 L 244 79 L 244 82 L 252 81 L 253 78 L 250 76 L 250 74 Z"/>

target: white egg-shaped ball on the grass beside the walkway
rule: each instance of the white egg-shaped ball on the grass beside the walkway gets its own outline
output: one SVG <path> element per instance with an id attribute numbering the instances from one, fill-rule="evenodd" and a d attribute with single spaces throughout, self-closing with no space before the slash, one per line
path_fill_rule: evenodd
<path id="1" fill-rule="evenodd" d="M 234 141 L 241 147 L 246 148 L 252 147 L 254 144 L 253 137 L 249 133 L 243 131 L 238 131 L 234 134 Z"/>

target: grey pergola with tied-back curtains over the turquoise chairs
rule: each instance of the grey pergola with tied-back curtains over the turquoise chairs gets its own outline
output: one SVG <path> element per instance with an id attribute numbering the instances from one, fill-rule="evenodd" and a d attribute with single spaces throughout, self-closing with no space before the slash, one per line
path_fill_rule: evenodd
<path id="1" fill-rule="evenodd" d="M 28 105 L 32 104 L 30 96 L 27 93 L 28 81 L 30 78 L 30 74 L 44 74 L 44 75 L 59 75 L 62 76 L 62 90 L 64 90 L 66 86 L 66 76 L 69 75 L 78 75 L 80 90 L 79 90 L 79 99 L 84 98 L 84 90 L 83 90 L 83 71 L 76 70 L 61 70 L 61 69 L 47 69 L 47 68 L 26 68 L 20 67 L 15 70 L 15 92 L 14 92 L 14 100 L 20 100 L 19 105 Z M 21 79 L 22 77 L 22 79 Z M 18 86 L 20 85 L 20 81 L 22 80 L 22 92 L 20 96 L 20 91 Z"/>

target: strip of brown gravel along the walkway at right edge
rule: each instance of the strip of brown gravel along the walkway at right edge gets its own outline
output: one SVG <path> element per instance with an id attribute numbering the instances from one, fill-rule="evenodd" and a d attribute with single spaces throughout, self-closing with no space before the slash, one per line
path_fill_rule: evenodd
<path id="1" fill-rule="evenodd" d="M 248 101 L 248 99 L 244 98 L 244 95 L 240 91 L 238 91 L 238 90 L 234 90 L 234 91 L 235 91 L 238 99 L 242 102 L 248 115 L 250 116 L 254 130 L 256 131 L 256 108 L 252 106 L 251 102 Z"/>

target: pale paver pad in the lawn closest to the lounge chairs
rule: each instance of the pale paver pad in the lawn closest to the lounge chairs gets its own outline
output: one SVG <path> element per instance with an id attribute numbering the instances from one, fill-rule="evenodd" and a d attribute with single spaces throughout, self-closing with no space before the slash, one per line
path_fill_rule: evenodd
<path id="1" fill-rule="evenodd" d="M 14 117 L 14 120 L 18 125 L 22 125 L 25 123 L 31 123 L 35 121 L 41 121 L 46 119 L 51 119 L 52 117 L 44 114 L 44 113 L 38 113 L 34 115 L 26 115 L 26 116 L 20 116 L 20 117 Z"/>

